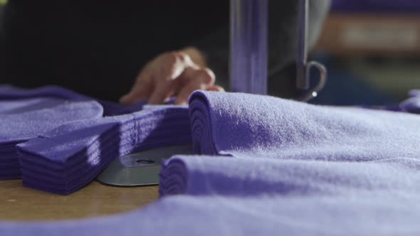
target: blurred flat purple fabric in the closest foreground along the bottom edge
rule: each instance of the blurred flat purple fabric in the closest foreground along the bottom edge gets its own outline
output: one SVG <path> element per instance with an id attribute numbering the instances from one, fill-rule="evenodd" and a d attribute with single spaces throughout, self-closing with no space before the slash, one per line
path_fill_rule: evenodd
<path id="1" fill-rule="evenodd" d="M 354 195 L 177 195 L 140 210 L 88 220 L 0 222 L 1 235 L 419 235 L 419 198 Z"/>

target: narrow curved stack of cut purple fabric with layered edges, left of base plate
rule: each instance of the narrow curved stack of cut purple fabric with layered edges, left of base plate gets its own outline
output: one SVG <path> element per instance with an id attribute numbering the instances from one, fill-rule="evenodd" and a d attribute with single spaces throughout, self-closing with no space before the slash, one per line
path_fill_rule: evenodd
<path id="1" fill-rule="evenodd" d="M 51 193 L 73 193 L 118 156 L 190 144 L 188 116 L 187 107 L 162 105 L 52 129 L 18 146 L 23 185 Z"/>

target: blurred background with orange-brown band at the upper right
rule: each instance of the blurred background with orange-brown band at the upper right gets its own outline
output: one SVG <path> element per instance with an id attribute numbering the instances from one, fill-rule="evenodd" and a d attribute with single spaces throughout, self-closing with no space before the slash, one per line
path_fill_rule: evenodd
<path id="1" fill-rule="evenodd" d="M 0 0 L 0 37 L 6 2 Z M 313 103 L 401 102 L 409 90 L 420 89 L 420 1 L 332 0 L 311 57 L 329 70 Z"/>

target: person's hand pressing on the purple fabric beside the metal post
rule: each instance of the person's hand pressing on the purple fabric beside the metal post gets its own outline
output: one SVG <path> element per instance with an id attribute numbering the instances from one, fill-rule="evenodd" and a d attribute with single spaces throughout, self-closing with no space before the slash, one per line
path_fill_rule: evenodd
<path id="1" fill-rule="evenodd" d="M 195 48 L 158 55 L 140 71 L 132 90 L 121 97 L 123 104 L 149 99 L 161 104 L 177 95 L 175 104 L 187 104 L 194 90 L 224 91 L 214 85 L 214 73 L 206 68 L 204 57 Z"/>

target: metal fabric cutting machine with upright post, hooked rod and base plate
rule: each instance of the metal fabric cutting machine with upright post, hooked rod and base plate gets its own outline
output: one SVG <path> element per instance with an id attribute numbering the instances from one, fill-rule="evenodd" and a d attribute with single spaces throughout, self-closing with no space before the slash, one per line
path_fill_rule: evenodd
<path id="1" fill-rule="evenodd" d="M 317 96 L 327 80 L 325 66 L 308 62 L 309 1 L 298 0 L 298 52 L 296 88 L 303 92 L 297 100 L 307 102 Z M 268 0 L 231 0 L 230 82 L 232 92 L 267 94 L 268 80 Z M 311 68 L 320 80 L 310 88 Z M 98 181 L 111 186 L 147 186 L 159 183 L 163 159 L 176 154 L 193 154 L 191 145 L 167 146 L 121 156 L 100 173 Z"/>

